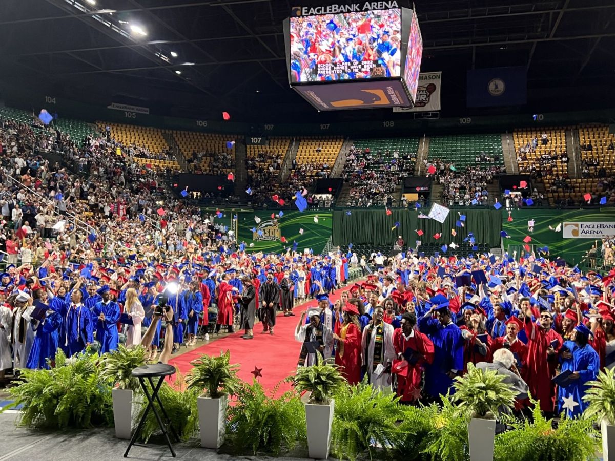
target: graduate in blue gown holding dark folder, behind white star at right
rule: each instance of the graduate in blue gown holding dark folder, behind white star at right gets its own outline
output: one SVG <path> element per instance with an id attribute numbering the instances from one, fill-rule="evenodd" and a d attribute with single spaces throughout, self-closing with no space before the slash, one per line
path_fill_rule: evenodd
<path id="1" fill-rule="evenodd" d="M 566 341 L 560 349 L 561 372 L 571 371 L 573 375 L 568 384 L 561 385 L 557 390 L 557 412 L 566 410 L 570 418 L 580 416 L 587 402 L 583 400 L 585 384 L 595 380 L 600 370 L 598 353 L 588 344 L 592 332 L 581 324 L 574 328 L 574 341 Z"/>

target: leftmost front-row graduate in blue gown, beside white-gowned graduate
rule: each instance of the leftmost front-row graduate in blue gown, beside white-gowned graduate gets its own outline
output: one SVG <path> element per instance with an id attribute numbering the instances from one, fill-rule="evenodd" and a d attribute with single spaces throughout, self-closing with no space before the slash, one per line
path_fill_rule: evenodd
<path id="1" fill-rule="evenodd" d="M 34 299 L 40 299 L 41 302 L 45 302 L 45 293 L 39 288 L 34 291 Z M 30 349 L 30 355 L 28 355 L 28 363 L 26 368 L 49 369 L 47 359 L 55 360 L 55 353 L 58 350 L 58 343 L 60 341 L 60 325 L 62 325 L 62 314 L 56 312 L 53 309 L 47 309 L 45 317 L 41 321 L 33 319 L 31 321 L 32 328 L 36 332 L 32 349 Z"/>

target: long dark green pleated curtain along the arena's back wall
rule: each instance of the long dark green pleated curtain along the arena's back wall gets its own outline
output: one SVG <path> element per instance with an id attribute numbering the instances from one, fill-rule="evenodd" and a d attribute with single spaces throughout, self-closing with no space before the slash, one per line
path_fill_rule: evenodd
<path id="1" fill-rule="evenodd" d="M 451 210 L 443 224 L 434 219 L 419 218 L 416 211 L 391 210 L 387 216 L 386 210 L 351 210 L 348 216 L 346 210 L 333 211 L 332 236 L 333 245 L 393 245 L 401 235 L 406 245 L 414 246 L 415 240 L 423 243 L 462 243 L 469 232 L 474 234 L 476 243 L 486 243 L 491 248 L 499 246 L 502 230 L 502 212 L 498 210 L 462 210 L 466 215 L 464 227 L 455 227 L 459 220 L 457 210 Z M 392 229 L 399 222 L 397 229 Z M 423 230 L 419 237 L 416 230 Z M 453 237 L 451 229 L 456 230 Z M 434 234 L 442 237 L 435 239 Z"/>

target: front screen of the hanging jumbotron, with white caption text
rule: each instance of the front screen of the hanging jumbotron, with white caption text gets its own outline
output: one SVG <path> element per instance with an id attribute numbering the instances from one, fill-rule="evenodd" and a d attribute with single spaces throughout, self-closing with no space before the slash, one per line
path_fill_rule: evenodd
<path id="1" fill-rule="evenodd" d="M 291 17 L 291 82 L 400 77 L 401 28 L 399 8 Z"/>

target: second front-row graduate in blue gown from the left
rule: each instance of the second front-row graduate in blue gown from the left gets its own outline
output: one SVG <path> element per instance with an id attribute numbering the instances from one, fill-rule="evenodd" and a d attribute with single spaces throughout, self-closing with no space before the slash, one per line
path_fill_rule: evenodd
<path id="1" fill-rule="evenodd" d="M 70 302 L 59 297 L 49 301 L 50 309 L 62 313 L 59 341 L 66 357 L 73 357 L 93 342 L 92 313 L 81 301 L 83 293 L 81 290 L 73 290 L 70 296 Z"/>

